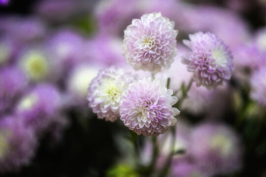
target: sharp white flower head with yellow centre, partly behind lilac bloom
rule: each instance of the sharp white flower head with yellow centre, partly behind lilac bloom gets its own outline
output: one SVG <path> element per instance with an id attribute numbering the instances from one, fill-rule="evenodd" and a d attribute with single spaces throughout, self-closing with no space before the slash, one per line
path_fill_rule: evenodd
<path id="1" fill-rule="evenodd" d="M 110 67 L 100 70 L 88 89 L 89 107 L 97 113 L 98 118 L 115 121 L 119 116 L 121 95 L 134 80 L 135 76 L 123 69 Z"/>

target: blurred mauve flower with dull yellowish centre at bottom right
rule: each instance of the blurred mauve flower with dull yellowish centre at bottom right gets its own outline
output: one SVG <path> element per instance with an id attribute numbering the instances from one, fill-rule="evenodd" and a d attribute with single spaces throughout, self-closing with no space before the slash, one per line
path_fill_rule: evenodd
<path id="1" fill-rule="evenodd" d="M 230 127 L 201 124 L 194 129 L 191 139 L 191 155 L 210 174 L 231 174 L 241 168 L 242 149 Z"/>

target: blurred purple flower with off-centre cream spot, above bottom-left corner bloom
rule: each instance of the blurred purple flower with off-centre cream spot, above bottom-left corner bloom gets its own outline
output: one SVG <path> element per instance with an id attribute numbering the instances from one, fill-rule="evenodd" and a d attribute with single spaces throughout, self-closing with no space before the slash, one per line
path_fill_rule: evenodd
<path id="1" fill-rule="evenodd" d="M 16 114 L 26 126 L 43 132 L 60 118 L 62 106 L 59 90 L 50 84 L 39 84 L 25 94 L 16 106 Z"/>

